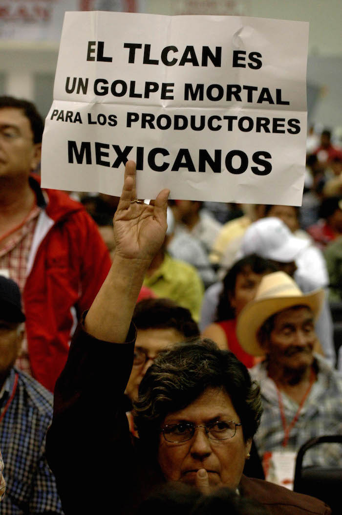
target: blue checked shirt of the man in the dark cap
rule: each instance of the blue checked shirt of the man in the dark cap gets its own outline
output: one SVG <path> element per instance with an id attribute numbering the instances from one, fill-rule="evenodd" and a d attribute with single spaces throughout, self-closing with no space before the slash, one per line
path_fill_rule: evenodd
<path id="1" fill-rule="evenodd" d="M 15 376 L 18 385 L 13 391 Z M 45 433 L 52 420 L 53 396 L 23 372 L 11 369 L 1 391 L 0 446 L 5 462 L 6 495 L 2 515 L 60 513 L 56 482 L 45 459 Z"/>

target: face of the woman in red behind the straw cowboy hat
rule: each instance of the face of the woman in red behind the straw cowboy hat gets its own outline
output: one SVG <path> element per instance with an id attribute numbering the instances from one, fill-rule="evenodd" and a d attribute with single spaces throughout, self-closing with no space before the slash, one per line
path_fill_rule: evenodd
<path id="1" fill-rule="evenodd" d="M 229 297 L 230 305 L 235 310 L 235 318 L 245 305 L 255 298 L 258 286 L 266 273 L 255 273 L 250 267 L 247 267 L 237 274 L 234 295 Z"/>

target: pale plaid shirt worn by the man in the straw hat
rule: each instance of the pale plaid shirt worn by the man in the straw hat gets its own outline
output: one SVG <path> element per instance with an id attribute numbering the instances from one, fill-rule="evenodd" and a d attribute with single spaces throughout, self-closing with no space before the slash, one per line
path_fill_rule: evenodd
<path id="1" fill-rule="evenodd" d="M 266 451 L 298 452 L 307 440 L 322 435 L 342 434 L 342 375 L 332 369 L 327 362 L 315 355 L 318 369 L 317 380 L 313 384 L 299 418 L 292 428 L 285 448 L 283 424 L 281 421 L 277 388 L 267 376 L 267 362 L 255 365 L 249 370 L 252 378 L 261 386 L 263 415 L 254 441 L 260 456 Z M 281 392 L 287 425 L 293 420 L 298 404 Z M 304 456 L 304 466 L 342 467 L 342 445 L 321 444 Z"/>

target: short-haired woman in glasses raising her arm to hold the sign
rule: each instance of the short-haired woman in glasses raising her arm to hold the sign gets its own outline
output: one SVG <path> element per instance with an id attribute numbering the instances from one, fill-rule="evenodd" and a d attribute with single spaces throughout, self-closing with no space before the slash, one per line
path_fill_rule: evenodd
<path id="1" fill-rule="evenodd" d="M 168 190 L 137 203 L 135 165 L 126 164 L 114 217 L 110 272 L 79 326 L 55 390 L 46 452 L 66 515 L 134 513 L 165 481 L 232 489 L 270 513 L 330 513 L 326 505 L 242 476 L 261 416 L 259 387 L 246 367 L 213 342 L 176 344 L 148 368 L 130 436 L 123 394 L 135 328 L 130 324 L 146 270 L 166 231 Z M 116 342 L 116 343 L 114 343 Z"/>

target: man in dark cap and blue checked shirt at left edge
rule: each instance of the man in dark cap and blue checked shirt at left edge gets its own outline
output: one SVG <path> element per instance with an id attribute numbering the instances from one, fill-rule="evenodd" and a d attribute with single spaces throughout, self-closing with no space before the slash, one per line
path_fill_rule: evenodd
<path id="1" fill-rule="evenodd" d="M 2 515 L 62 514 L 56 482 L 45 458 L 53 397 L 13 365 L 20 353 L 25 315 L 18 285 L 0 276 L 0 445 L 6 495 Z"/>

